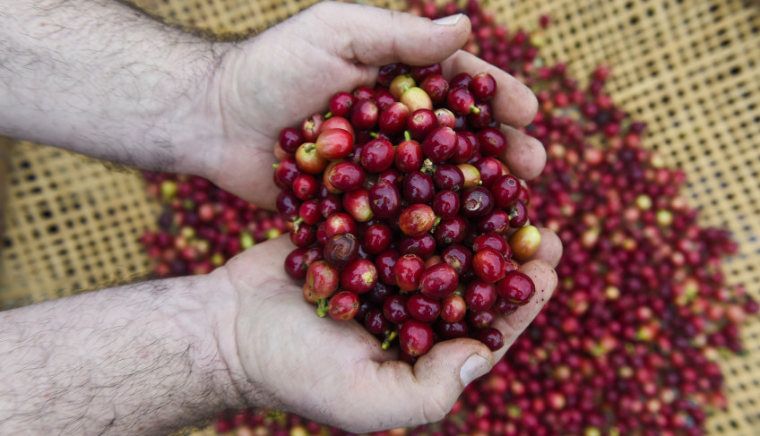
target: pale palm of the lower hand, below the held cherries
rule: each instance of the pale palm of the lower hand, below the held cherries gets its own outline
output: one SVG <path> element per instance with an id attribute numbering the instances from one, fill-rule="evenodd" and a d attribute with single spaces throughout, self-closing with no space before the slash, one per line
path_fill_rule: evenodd
<path id="1" fill-rule="evenodd" d="M 337 419 L 337 409 L 352 419 L 344 425 L 362 423 L 359 417 L 384 418 L 377 401 L 403 392 L 377 389 L 390 389 L 400 369 L 413 377 L 411 367 L 357 322 L 316 316 L 281 266 L 292 249 L 287 237 L 257 248 L 226 267 L 243 311 L 236 320 L 238 353 L 253 386 L 252 403 L 327 421 Z M 253 271 L 250 265 L 262 268 Z"/>

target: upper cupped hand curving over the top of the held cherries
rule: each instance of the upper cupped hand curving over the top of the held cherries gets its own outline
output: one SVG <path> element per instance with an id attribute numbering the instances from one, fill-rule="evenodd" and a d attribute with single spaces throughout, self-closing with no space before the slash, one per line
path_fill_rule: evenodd
<path id="1" fill-rule="evenodd" d="M 324 2 L 245 42 L 226 47 L 198 111 L 202 173 L 247 201 L 273 209 L 274 142 L 283 127 L 326 113 L 339 91 L 372 86 L 379 67 L 442 63 L 446 77 L 489 72 L 498 84 L 498 121 L 530 124 L 536 98 L 512 76 L 459 50 L 470 36 L 464 15 L 430 21 L 367 5 Z M 528 141 L 509 129 L 507 139 Z M 531 153 L 543 152 L 534 146 Z M 539 150 L 540 149 L 540 150 Z M 522 165 L 520 157 L 508 164 Z M 541 166 L 542 167 L 542 166 Z M 538 170 L 540 172 L 540 169 Z M 530 177 L 538 172 L 528 174 Z"/>

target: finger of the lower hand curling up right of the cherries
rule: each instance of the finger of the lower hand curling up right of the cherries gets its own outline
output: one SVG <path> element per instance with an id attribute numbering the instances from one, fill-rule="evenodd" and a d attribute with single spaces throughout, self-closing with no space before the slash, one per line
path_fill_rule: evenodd
<path id="1" fill-rule="evenodd" d="M 494 327 L 504 335 L 504 346 L 494 353 L 497 360 L 505 355 L 506 350 L 531 324 L 557 288 L 557 272 L 547 262 L 529 261 L 522 265 L 522 272 L 533 280 L 536 295 L 533 295 L 529 303 L 519 307 L 513 314 L 497 317 Z"/>

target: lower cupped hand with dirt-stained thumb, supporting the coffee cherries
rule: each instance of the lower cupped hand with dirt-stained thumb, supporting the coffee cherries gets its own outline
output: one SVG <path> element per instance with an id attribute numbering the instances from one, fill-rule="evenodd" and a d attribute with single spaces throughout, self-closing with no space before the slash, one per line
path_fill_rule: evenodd
<path id="1" fill-rule="evenodd" d="M 540 154 L 526 144 L 517 175 L 542 167 Z M 356 321 L 316 316 L 298 280 L 289 277 L 283 259 L 293 250 L 285 235 L 239 254 L 214 271 L 216 283 L 237 295 L 228 317 L 235 338 L 224 339 L 222 361 L 238 380 L 246 406 L 293 412 L 350 432 L 371 432 L 435 422 L 444 417 L 471 380 L 488 372 L 548 302 L 557 286 L 562 246 L 542 229 L 540 249 L 522 265 L 536 285 L 531 302 L 510 316 L 497 316 L 494 327 L 505 346 L 492 353 L 475 339 L 446 340 L 419 357 L 414 366 L 384 351 L 380 341 Z M 225 280 L 229 285 L 225 285 Z"/>

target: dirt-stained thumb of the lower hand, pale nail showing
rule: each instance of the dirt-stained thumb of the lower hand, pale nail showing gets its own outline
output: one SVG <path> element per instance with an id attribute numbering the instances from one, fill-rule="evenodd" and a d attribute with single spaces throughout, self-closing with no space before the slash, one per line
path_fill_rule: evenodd
<path id="1" fill-rule="evenodd" d="M 344 430 L 363 433 L 440 421 L 462 389 L 494 362 L 487 346 L 462 338 L 436 344 L 414 367 L 400 361 L 375 363 L 355 389 L 366 393 L 371 413 L 367 415 L 367 404 L 356 402 L 356 410 L 346 414 L 356 419 Z"/>

